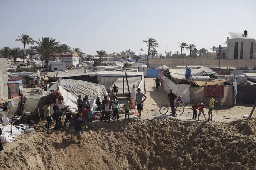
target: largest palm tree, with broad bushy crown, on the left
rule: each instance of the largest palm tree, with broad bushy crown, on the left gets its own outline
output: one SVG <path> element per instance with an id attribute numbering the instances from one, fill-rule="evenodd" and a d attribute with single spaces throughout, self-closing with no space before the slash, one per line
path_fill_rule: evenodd
<path id="1" fill-rule="evenodd" d="M 42 40 L 38 39 L 39 42 L 35 41 L 37 46 L 35 50 L 37 53 L 41 54 L 41 57 L 45 59 L 45 72 L 48 72 L 49 59 L 56 54 L 59 50 L 59 42 L 53 38 L 42 37 Z"/>

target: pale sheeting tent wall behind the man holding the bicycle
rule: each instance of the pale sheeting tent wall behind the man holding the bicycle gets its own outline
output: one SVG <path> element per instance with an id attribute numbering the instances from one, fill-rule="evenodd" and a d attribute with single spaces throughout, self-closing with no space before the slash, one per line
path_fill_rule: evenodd
<path id="1" fill-rule="evenodd" d="M 185 103 L 190 103 L 190 85 L 188 84 L 176 84 L 172 80 L 168 79 L 168 77 L 164 77 L 164 91 L 170 93 L 170 89 L 172 89 L 173 93 L 176 96 L 181 96 L 181 100 Z M 166 96 L 167 98 L 167 96 Z"/>

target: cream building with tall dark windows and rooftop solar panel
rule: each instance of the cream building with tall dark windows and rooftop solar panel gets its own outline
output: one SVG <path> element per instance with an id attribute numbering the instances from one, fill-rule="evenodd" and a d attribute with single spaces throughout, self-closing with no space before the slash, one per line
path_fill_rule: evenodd
<path id="1" fill-rule="evenodd" d="M 230 35 L 230 39 L 227 39 L 226 41 L 227 42 L 226 51 L 225 51 L 225 47 L 223 47 L 221 52 L 221 53 L 225 53 L 225 58 L 254 59 L 255 39 L 249 38 L 242 33 L 229 33 L 229 35 Z M 216 56 L 218 57 L 218 52 Z"/>

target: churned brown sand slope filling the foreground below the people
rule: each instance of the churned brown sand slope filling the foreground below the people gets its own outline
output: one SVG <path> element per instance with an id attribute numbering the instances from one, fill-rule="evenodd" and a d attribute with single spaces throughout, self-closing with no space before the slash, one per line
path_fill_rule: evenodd
<path id="1" fill-rule="evenodd" d="M 25 134 L 4 145 L 3 169 L 255 169 L 255 120 L 231 123 L 154 119 L 120 121 L 85 130 Z M 248 135 L 250 134 L 250 135 Z M 0 169 L 1 169 L 0 168 Z"/>

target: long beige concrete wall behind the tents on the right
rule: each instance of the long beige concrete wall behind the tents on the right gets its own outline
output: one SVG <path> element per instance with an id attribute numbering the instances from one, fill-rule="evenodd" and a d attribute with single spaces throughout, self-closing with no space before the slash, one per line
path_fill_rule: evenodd
<path id="1" fill-rule="evenodd" d="M 165 64 L 168 67 L 176 65 L 202 65 L 205 67 L 248 67 L 255 69 L 255 59 L 193 59 L 193 58 L 150 58 L 149 67 L 157 68 Z"/>

